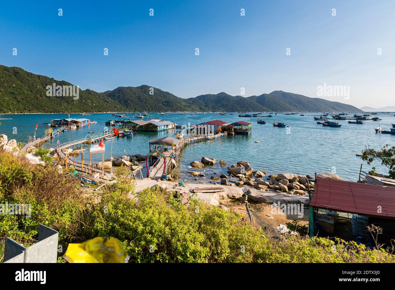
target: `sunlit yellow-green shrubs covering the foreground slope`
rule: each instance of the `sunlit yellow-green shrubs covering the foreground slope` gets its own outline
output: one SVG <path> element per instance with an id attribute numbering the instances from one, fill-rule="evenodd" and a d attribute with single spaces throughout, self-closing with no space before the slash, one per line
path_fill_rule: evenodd
<path id="1" fill-rule="evenodd" d="M 32 245 L 43 223 L 59 231 L 59 256 L 68 243 L 111 236 L 122 241 L 129 262 L 394 262 L 382 249 L 341 240 L 271 240 L 239 215 L 199 200 L 185 206 L 158 188 L 135 195 L 123 170 L 117 168 L 118 182 L 103 192 L 82 193 L 76 178 L 56 168 L 0 155 L 0 203 L 32 204 L 31 218 L 0 215 L 0 260 L 6 237 Z"/>

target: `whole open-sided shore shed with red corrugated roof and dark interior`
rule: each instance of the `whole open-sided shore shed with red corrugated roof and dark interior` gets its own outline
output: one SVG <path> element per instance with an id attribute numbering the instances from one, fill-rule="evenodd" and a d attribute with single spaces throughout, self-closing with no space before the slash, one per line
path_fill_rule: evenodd
<path id="1" fill-rule="evenodd" d="M 371 224 L 382 228 L 383 241 L 395 238 L 395 187 L 317 178 L 310 200 L 310 236 L 321 231 L 367 242 Z"/>

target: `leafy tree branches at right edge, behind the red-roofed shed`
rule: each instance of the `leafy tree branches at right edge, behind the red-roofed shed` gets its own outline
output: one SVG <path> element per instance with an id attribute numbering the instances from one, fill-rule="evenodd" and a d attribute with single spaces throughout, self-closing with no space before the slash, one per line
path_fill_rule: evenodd
<path id="1" fill-rule="evenodd" d="M 381 164 L 388 169 L 388 175 L 385 177 L 395 179 L 395 146 L 390 147 L 389 144 L 386 144 L 382 146 L 379 151 L 365 149 L 362 151 L 361 159 L 366 161 L 369 165 L 371 165 L 373 161 L 381 162 Z M 378 176 L 376 167 L 372 167 L 369 174 Z"/>

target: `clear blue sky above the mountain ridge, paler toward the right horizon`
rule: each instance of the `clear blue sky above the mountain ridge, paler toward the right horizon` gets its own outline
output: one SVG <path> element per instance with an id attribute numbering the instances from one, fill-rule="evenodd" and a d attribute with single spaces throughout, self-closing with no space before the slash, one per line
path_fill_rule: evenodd
<path id="1" fill-rule="evenodd" d="M 394 0 L 0 6 L 0 64 L 98 92 L 148 84 L 184 98 L 240 95 L 242 87 L 245 96 L 283 90 L 317 97 L 326 83 L 349 86 L 350 96 L 324 99 L 384 107 L 395 105 L 394 52 Z"/>

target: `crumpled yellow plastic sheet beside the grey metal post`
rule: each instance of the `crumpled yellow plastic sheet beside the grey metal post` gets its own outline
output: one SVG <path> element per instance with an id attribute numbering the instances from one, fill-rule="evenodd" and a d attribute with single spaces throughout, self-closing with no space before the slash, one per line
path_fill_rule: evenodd
<path id="1" fill-rule="evenodd" d="M 89 239 L 80 244 L 69 244 L 63 258 L 69 263 L 124 263 L 126 253 L 116 238 Z"/>

